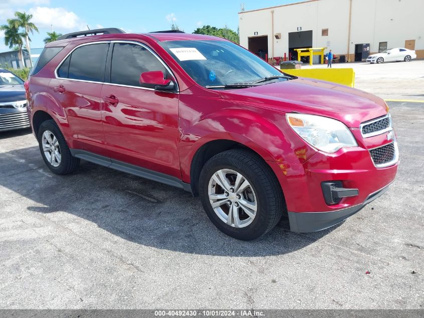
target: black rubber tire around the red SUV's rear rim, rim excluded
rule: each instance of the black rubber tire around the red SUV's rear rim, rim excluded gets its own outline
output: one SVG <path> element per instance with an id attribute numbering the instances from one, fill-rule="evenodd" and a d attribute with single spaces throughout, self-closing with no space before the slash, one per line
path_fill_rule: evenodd
<path id="1" fill-rule="evenodd" d="M 44 154 L 43 146 L 42 146 L 42 137 L 45 131 L 52 132 L 59 143 L 61 160 L 60 160 L 60 164 L 57 167 L 53 166 L 49 162 L 49 160 L 46 158 L 46 155 Z M 80 162 L 79 158 L 75 158 L 71 155 L 68 144 L 65 141 L 65 137 L 63 137 L 62 132 L 60 131 L 59 127 L 56 125 L 54 120 L 45 121 L 40 125 L 40 129 L 38 130 L 38 144 L 39 144 L 41 156 L 43 157 L 44 162 L 53 173 L 69 174 L 75 171 L 75 169 L 78 167 Z"/>

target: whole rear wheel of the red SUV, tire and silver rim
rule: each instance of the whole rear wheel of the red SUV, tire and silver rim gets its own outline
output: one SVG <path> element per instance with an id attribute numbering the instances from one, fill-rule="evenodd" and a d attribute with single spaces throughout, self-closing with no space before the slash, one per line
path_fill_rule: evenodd
<path id="1" fill-rule="evenodd" d="M 69 147 L 54 120 L 40 125 L 38 143 L 47 167 L 56 174 L 68 174 L 79 165 L 79 159 L 71 155 Z"/>

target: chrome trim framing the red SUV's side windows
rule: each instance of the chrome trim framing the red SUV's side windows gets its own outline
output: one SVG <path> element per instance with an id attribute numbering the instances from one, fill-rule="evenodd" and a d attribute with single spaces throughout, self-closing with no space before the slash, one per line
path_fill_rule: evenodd
<path id="1" fill-rule="evenodd" d="M 85 45 L 91 45 L 91 44 L 101 44 L 101 43 L 131 43 L 131 44 L 135 44 L 135 45 L 139 45 L 144 47 L 146 50 L 148 50 L 150 53 L 153 54 L 153 56 L 155 56 L 158 61 L 167 69 L 167 71 L 171 74 L 171 76 L 174 78 L 174 82 L 176 84 L 176 88 L 177 90 L 175 92 L 172 91 L 163 91 L 163 92 L 168 92 L 168 93 L 174 93 L 174 94 L 179 94 L 180 93 L 180 87 L 178 85 L 178 81 L 177 78 L 175 77 L 174 73 L 171 71 L 171 69 L 169 68 L 169 66 L 162 60 L 162 58 L 156 54 L 150 47 L 148 47 L 147 45 L 140 43 L 140 42 L 136 42 L 136 41 L 125 41 L 125 40 L 110 40 L 110 41 L 95 41 L 95 42 L 88 42 L 88 43 L 83 43 L 80 44 L 76 47 L 74 47 L 68 54 L 66 54 L 66 56 L 62 59 L 62 61 L 58 64 L 58 66 L 55 68 L 55 78 L 56 79 L 66 79 L 66 80 L 73 80 L 73 81 L 79 81 L 79 82 L 87 82 L 87 83 L 97 83 L 97 84 L 106 84 L 106 85 L 113 85 L 113 86 L 122 86 L 122 87 L 130 87 L 130 88 L 139 88 L 139 89 L 145 89 L 145 90 L 155 90 L 154 88 L 149 88 L 149 87 L 142 87 L 142 86 L 132 86 L 132 85 L 124 85 L 124 84 L 116 84 L 116 83 L 107 83 L 107 82 L 97 82 L 97 81 L 91 81 L 91 80 L 85 80 L 85 79 L 74 79 L 74 78 L 66 78 L 66 77 L 59 77 L 57 75 L 57 71 L 59 70 L 59 68 L 62 66 L 62 64 L 65 62 L 65 60 L 68 58 L 69 55 L 72 54 L 72 52 L 74 52 L 76 49 L 85 46 Z M 113 52 L 112 52 L 113 54 Z"/>

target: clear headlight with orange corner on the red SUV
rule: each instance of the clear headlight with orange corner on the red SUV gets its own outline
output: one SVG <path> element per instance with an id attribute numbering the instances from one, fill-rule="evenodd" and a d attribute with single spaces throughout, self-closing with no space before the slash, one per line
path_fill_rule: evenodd
<path id="1" fill-rule="evenodd" d="M 306 114 L 286 114 L 293 130 L 313 147 L 334 153 L 342 147 L 358 146 L 345 124 L 335 119 Z"/>

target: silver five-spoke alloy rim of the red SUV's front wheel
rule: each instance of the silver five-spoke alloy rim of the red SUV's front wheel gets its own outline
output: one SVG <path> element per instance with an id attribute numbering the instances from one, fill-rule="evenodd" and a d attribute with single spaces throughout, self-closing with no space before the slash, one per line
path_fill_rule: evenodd
<path id="1" fill-rule="evenodd" d="M 210 178 L 209 201 L 219 219 L 234 228 L 250 225 L 256 217 L 256 194 L 239 172 L 220 169 Z"/>

